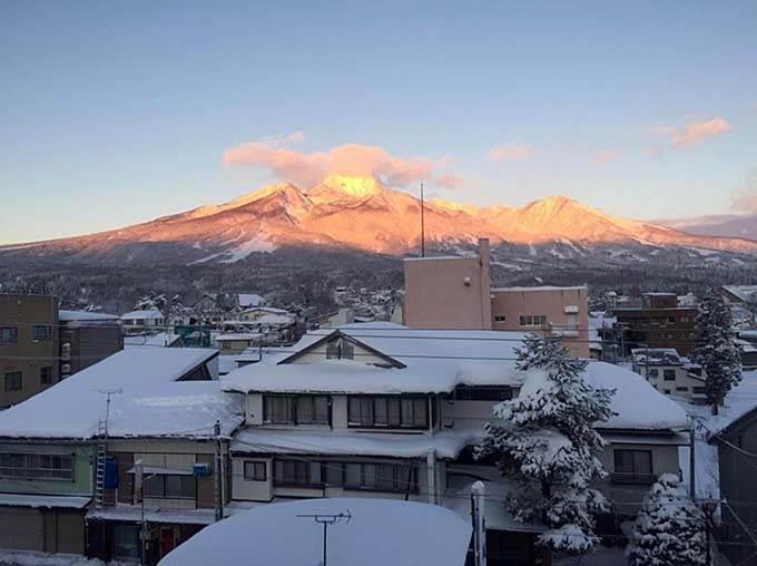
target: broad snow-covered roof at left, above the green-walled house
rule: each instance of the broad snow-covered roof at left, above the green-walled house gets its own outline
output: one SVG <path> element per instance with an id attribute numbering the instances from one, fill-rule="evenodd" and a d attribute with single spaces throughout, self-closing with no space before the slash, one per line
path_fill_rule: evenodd
<path id="1" fill-rule="evenodd" d="M 218 381 L 177 381 L 217 355 L 194 348 L 131 348 L 0 411 L 0 437 L 89 439 L 111 396 L 111 437 L 206 437 L 218 419 L 230 432 L 242 401 Z"/>

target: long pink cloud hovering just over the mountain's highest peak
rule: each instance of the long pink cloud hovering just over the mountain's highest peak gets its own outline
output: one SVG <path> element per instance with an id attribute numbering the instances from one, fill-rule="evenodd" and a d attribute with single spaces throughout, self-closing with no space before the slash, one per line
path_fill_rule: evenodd
<path id="1" fill-rule="evenodd" d="M 450 174 L 439 175 L 450 157 L 397 157 L 377 146 L 345 144 L 327 152 L 303 153 L 292 146 L 304 140 L 302 131 L 283 138 L 249 142 L 224 153 L 226 165 L 267 169 L 273 176 L 309 187 L 328 174 L 371 176 L 391 186 L 406 186 L 422 179 L 440 186 L 451 183 Z M 460 177 L 462 179 L 462 177 Z"/>

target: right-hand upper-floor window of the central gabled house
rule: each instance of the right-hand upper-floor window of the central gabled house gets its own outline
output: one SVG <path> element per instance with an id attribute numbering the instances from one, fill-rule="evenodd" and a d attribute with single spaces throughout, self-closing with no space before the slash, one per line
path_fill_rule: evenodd
<path id="1" fill-rule="evenodd" d="M 347 424 L 371 428 L 427 428 L 427 399 L 351 396 L 347 401 Z"/>

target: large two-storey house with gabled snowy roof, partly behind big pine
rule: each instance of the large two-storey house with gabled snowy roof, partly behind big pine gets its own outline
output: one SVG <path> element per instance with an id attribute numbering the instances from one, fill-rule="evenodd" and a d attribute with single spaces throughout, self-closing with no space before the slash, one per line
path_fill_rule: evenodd
<path id="1" fill-rule="evenodd" d="M 514 349 L 522 340 L 513 332 L 352 324 L 311 332 L 276 360 L 229 373 L 224 389 L 245 397 L 245 424 L 230 443 L 239 478 L 234 501 L 381 497 L 469 517 L 460 494 L 475 480 L 507 491 L 499 470 L 472 458 L 472 448 L 493 407 L 519 393 L 524 377 Z M 617 534 L 653 479 L 678 472 L 686 416 L 622 368 L 593 362 L 586 379 L 618 391 L 617 416 L 600 429 L 610 471 L 601 488 L 616 501 L 603 528 Z M 538 527 L 514 524 L 501 505 L 486 514 L 490 549 L 521 548 L 527 558 L 518 564 L 540 559 Z"/>

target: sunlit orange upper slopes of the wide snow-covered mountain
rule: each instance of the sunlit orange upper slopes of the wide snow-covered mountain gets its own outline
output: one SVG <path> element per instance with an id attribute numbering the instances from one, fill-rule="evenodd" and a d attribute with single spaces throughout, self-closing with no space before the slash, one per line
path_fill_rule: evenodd
<path id="1" fill-rule="evenodd" d="M 420 213 L 419 201 L 406 193 L 372 178 L 332 175 L 307 189 L 277 183 L 225 204 L 98 234 L 4 246 L 0 254 L 119 264 L 230 263 L 253 252 L 291 246 L 399 255 L 419 247 Z M 751 240 L 691 235 L 611 216 L 561 195 L 521 208 L 433 199 L 425 204 L 425 233 L 431 247 L 466 245 L 486 236 L 494 245 L 560 256 L 602 248 L 622 257 L 670 247 L 757 254 Z"/>

